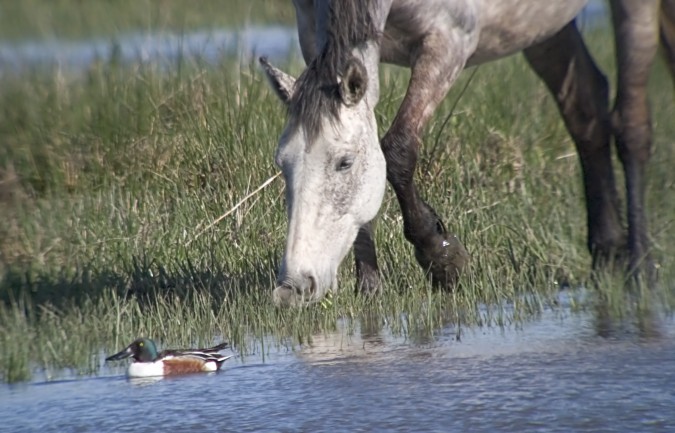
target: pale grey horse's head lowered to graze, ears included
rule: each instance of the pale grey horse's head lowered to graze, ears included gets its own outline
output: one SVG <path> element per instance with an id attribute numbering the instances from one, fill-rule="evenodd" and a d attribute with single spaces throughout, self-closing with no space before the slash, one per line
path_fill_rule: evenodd
<path id="1" fill-rule="evenodd" d="M 369 83 L 354 57 L 332 77 L 310 64 L 297 81 L 264 59 L 261 64 L 289 109 L 276 152 L 286 181 L 288 234 L 274 300 L 299 305 L 337 288 L 338 265 L 382 203 L 377 75 Z"/>

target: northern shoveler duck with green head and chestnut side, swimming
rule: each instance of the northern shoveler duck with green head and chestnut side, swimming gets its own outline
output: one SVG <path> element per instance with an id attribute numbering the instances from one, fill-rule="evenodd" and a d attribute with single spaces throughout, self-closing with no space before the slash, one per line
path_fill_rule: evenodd
<path id="1" fill-rule="evenodd" d="M 227 343 L 222 343 L 208 349 L 164 350 L 158 353 L 154 341 L 139 338 L 121 352 L 107 357 L 106 362 L 133 357 L 134 362 L 127 370 L 129 377 L 173 376 L 217 371 L 223 362 L 232 357 L 218 353 L 227 346 Z"/>

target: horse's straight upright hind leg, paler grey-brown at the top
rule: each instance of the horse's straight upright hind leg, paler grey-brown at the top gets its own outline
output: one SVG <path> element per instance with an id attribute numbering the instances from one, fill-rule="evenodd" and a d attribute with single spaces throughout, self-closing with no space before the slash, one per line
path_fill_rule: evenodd
<path id="1" fill-rule="evenodd" d="M 616 38 L 617 96 L 612 128 L 626 178 L 630 271 L 653 273 L 645 216 L 645 174 L 652 127 L 647 80 L 658 48 L 658 0 L 613 0 Z"/>

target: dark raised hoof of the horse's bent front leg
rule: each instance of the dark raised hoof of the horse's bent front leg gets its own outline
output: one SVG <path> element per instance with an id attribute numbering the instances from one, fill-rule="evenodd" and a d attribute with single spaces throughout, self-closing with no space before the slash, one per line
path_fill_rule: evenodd
<path id="1" fill-rule="evenodd" d="M 469 253 L 455 235 L 443 234 L 437 239 L 424 251 L 415 248 L 415 258 L 428 272 L 434 286 L 453 289 L 469 263 Z"/>

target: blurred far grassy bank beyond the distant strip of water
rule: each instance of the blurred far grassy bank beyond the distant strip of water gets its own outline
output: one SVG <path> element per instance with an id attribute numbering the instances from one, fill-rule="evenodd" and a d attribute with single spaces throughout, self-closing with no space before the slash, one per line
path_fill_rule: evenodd
<path id="1" fill-rule="evenodd" d="M 283 0 L 21 0 L 0 2 L 0 41 L 107 38 L 130 32 L 293 25 Z"/>

